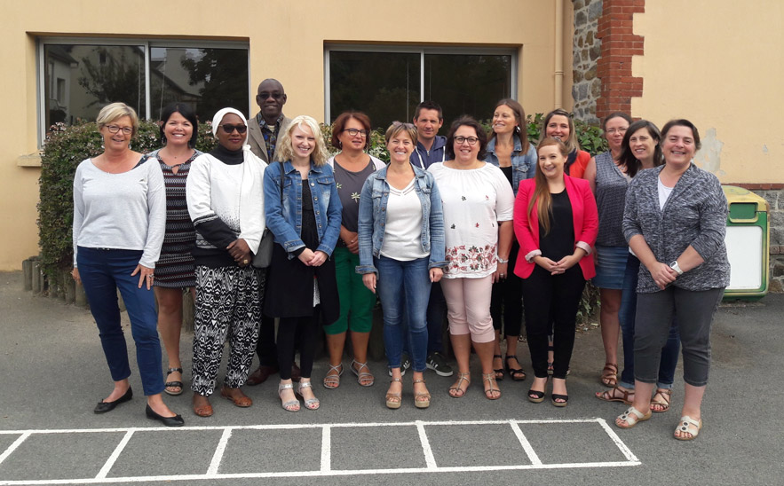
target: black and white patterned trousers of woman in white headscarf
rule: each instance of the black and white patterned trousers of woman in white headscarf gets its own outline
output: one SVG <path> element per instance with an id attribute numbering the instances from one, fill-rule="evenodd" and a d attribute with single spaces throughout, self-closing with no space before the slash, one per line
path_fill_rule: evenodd
<path id="1" fill-rule="evenodd" d="M 261 323 L 265 275 L 253 267 L 197 265 L 194 317 L 194 376 L 191 389 L 202 396 L 215 391 L 223 346 L 230 353 L 224 384 L 240 388 L 253 362 Z"/>

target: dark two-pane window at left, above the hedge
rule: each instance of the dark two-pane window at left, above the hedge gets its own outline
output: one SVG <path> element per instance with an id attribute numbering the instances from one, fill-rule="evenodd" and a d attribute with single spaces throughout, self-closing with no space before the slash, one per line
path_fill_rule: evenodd
<path id="1" fill-rule="evenodd" d="M 249 113 L 246 49 L 151 47 L 150 114 L 145 77 L 143 45 L 45 43 L 45 127 L 95 120 L 115 101 L 153 120 L 174 101 L 192 106 L 202 121 L 225 106 Z"/>

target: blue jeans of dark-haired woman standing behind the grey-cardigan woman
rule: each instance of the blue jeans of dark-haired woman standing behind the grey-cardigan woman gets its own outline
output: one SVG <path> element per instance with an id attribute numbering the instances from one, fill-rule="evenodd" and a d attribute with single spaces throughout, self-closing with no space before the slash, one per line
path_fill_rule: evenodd
<path id="1" fill-rule="evenodd" d="M 623 338 L 623 372 L 621 372 L 621 381 L 618 384 L 627 389 L 634 389 L 634 323 L 637 313 L 639 267 L 640 261 L 635 255 L 630 254 L 629 260 L 626 261 L 626 273 L 623 276 L 621 309 L 618 311 Z M 677 333 L 677 316 L 673 316 L 667 341 L 661 348 L 659 379 L 656 383 L 658 388 L 672 388 L 679 354 L 680 338 Z"/>

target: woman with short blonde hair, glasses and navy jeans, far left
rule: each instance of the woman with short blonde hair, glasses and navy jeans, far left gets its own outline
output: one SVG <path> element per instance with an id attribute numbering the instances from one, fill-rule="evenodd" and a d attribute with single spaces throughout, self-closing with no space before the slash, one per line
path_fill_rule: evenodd
<path id="1" fill-rule="evenodd" d="M 110 412 L 133 397 L 117 290 L 131 318 L 145 410 L 167 427 L 184 421 L 163 403 L 161 342 L 153 294 L 155 262 L 166 229 L 166 188 L 154 158 L 131 150 L 139 118 L 124 103 L 101 109 L 104 152 L 79 164 L 74 177 L 74 270 L 84 286 L 115 385 L 96 405 Z"/>

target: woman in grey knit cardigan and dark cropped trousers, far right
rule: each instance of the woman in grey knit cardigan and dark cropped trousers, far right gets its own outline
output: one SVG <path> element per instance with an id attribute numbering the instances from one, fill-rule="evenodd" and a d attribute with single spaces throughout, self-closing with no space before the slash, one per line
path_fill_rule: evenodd
<path id="1" fill-rule="evenodd" d="M 637 284 L 632 406 L 615 425 L 651 418 L 650 401 L 672 315 L 683 343 L 685 396 L 674 436 L 687 441 L 702 427 L 701 403 L 710 367 L 710 325 L 730 281 L 725 231 L 727 202 L 713 174 L 692 162 L 700 134 L 692 122 L 661 129 L 665 164 L 634 178 L 626 196 L 623 233 L 643 265 Z M 645 411 L 645 413 L 641 412 Z"/>

